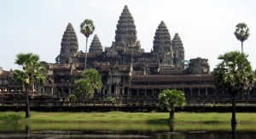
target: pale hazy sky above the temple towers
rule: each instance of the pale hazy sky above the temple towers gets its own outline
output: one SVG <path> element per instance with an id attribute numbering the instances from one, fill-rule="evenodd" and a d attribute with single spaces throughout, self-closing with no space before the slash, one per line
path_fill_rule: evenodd
<path id="1" fill-rule="evenodd" d="M 244 22 L 251 34 L 244 42 L 244 53 L 256 69 L 255 0 L 1 0 L 0 67 L 17 69 L 17 53 L 36 53 L 42 61 L 55 63 L 68 23 L 84 52 L 85 37 L 79 32 L 84 19 L 94 21 L 94 34 L 103 48 L 110 47 L 125 5 L 146 52 L 153 49 L 154 33 L 164 20 L 171 36 L 177 32 L 181 37 L 185 59 L 208 58 L 211 70 L 218 64 L 219 54 L 241 51 L 234 31 L 237 23 Z"/>

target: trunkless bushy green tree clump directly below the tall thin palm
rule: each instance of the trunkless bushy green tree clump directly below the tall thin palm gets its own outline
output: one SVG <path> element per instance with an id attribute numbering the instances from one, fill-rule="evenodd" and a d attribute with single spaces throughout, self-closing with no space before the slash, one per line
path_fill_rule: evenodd
<path id="1" fill-rule="evenodd" d="M 96 69 L 86 69 L 82 73 L 82 78 L 76 82 L 74 94 L 79 100 L 88 100 L 93 97 L 94 92 L 102 89 L 102 76 Z"/>

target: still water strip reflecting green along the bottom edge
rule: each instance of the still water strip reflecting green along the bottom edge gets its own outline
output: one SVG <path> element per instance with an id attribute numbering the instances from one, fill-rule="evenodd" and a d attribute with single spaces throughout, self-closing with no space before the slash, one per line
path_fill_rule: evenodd
<path id="1" fill-rule="evenodd" d="M 232 134 L 233 133 L 233 134 Z M 256 125 L 142 123 L 1 123 L 0 138 L 241 138 L 254 139 Z"/>

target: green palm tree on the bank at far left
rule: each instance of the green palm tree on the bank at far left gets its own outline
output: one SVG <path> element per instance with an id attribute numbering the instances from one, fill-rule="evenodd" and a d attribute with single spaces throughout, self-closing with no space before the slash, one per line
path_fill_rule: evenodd
<path id="1" fill-rule="evenodd" d="M 20 65 L 21 70 L 15 69 L 10 78 L 11 81 L 26 88 L 26 118 L 30 118 L 28 93 L 33 92 L 35 83 L 44 83 L 46 69 L 36 54 L 19 53 L 16 57 L 15 64 Z"/>

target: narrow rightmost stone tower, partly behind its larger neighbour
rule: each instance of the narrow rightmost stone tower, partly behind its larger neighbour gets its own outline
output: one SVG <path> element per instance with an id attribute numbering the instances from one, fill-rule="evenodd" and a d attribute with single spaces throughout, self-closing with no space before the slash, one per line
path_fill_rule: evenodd
<path id="1" fill-rule="evenodd" d="M 175 36 L 172 39 L 172 47 L 173 47 L 173 57 L 174 57 L 174 65 L 178 69 L 183 69 L 183 61 L 184 61 L 184 47 L 183 42 L 181 41 L 180 37 L 177 33 L 175 33 Z"/>

